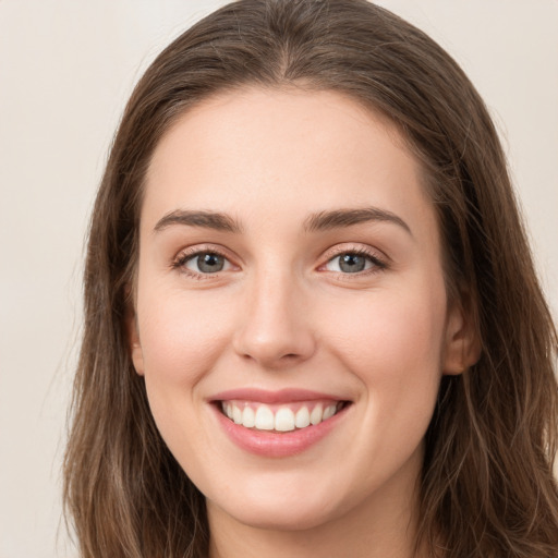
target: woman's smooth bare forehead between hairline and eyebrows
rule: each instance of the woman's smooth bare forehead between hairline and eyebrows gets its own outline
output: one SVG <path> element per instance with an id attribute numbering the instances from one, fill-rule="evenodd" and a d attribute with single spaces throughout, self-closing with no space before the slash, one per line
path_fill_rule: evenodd
<path id="1" fill-rule="evenodd" d="M 371 204 L 405 219 L 433 211 L 421 175 L 396 126 L 344 95 L 245 88 L 204 100 L 162 137 L 142 221 L 177 208 L 303 219 Z"/>

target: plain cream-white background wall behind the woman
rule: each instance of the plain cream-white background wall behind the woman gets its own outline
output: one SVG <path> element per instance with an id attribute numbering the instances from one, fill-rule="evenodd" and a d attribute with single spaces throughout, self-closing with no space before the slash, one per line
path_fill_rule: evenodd
<path id="1" fill-rule="evenodd" d="M 222 1 L 0 0 L 0 558 L 74 557 L 61 458 L 83 240 L 134 83 Z M 500 130 L 558 314 L 558 1 L 381 0 L 462 64 Z"/>

